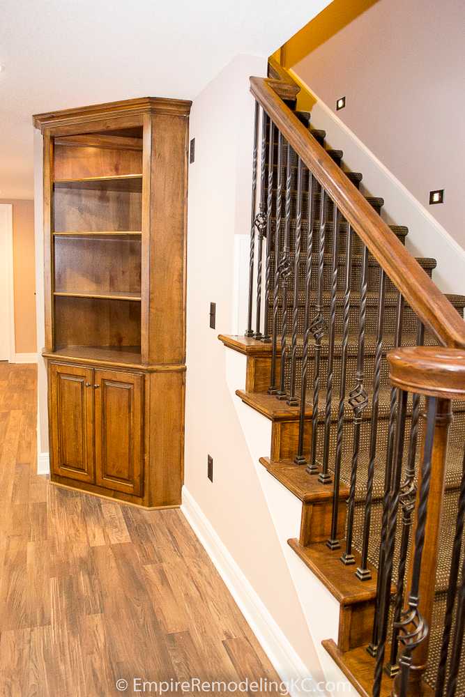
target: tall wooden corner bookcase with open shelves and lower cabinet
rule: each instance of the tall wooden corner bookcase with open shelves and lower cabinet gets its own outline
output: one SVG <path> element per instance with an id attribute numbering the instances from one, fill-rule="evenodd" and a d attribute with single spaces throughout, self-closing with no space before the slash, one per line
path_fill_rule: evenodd
<path id="1" fill-rule="evenodd" d="M 33 117 L 43 133 L 52 482 L 181 503 L 190 102 Z"/>

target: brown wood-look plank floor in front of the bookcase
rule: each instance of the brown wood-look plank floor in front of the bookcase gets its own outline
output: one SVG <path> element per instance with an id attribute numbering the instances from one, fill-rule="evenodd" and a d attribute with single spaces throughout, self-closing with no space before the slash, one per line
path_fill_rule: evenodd
<path id="1" fill-rule="evenodd" d="M 134 678 L 279 682 L 180 511 L 36 475 L 30 365 L 0 362 L 0 498 L 0 695 L 160 694 Z"/>

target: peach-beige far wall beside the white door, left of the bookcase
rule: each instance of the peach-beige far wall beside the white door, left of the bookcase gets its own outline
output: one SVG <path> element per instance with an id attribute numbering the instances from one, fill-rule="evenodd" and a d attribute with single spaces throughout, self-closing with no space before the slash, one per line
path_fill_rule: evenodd
<path id="1" fill-rule="evenodd" d="M 34 257 L 34 202 L 0 199 L 13 204 L 13 277 L 15 284 L 16 353 L 35 353 L 36 280 Z"/>

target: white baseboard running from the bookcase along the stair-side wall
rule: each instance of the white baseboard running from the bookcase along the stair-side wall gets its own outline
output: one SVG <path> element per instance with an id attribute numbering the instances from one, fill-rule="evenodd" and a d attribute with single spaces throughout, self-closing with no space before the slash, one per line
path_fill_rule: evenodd
<path id="1" fill-rule="evenodd" d="M 247 581 L 247 578 L 186 487 L 183 487 L 181 511 L 188 519 L 192 530 L 194 530 L 195 535 L 199 538 L 213 565 L 215 565 L 222 580 L 227 585 L 229 592 L 234 597 L 255 636 L 257 636 L 277 674 L 283 682 L 289 684 L 289 692 L 292 697 L 300 697 L 300 695 L 309 694 L 309 692 L 314 695 L 322 695 L 323 693 L 317 689 L 317 683 L 314 682 L 307 666 L 305 666 L 287 637 L 284 636 L 284 633 L 270 615 L 268 609 L 261 602 L 257 592 Z M 298 689 L 297 686 L 293 686 L 293 680 L 305 680 L 305 692 Z M 311 688 L 309 687 L 309 682 Z"/>

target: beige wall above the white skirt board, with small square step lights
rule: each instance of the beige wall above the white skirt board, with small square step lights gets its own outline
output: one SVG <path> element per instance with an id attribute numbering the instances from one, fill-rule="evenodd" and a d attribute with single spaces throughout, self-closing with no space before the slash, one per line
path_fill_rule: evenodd
<path id="1" fill-rule="evenodd" d="M 462 247 L 464 26 L 462 0 L 335 0 L 284 52 L 329 107 L 346 96 L 337 116 Z"/>

